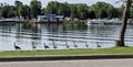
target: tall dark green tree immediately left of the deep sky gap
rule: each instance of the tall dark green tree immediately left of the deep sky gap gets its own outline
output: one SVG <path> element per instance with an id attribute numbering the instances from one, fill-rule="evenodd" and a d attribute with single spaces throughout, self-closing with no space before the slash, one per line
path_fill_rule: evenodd
<path id="1" fill-rule="evenodd" d="M 30 2 L 32 18 L 37 18 L 37 15 L 41 14 L 41 7 L 42 7 L 41 1 L 32 0 Z"/>

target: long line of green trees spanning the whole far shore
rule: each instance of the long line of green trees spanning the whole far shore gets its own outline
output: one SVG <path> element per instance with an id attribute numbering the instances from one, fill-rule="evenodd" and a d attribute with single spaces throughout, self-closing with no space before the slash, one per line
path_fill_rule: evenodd
<path id="1" fill-rule="evenodd" d="M 40 14 L 59 14 L 71 19 L 112 19 L 122 18 L 124 7 L 115 8 L 105 2 L 96 2 L 92 5 L 84 3 L 68 3 L 51 1 L 47 8 L 42 8 L 41 1 L 32 0 L 30 5 L 23 4 L 21 1 L 16 0 L 14 5 L 0 3 L 0 15 L 3 18 L 24 18 L 32 19 Z M 133 11 L 132 11 L 133 12 Z M 131 13 L 131 16 L 133 14 Z"/>

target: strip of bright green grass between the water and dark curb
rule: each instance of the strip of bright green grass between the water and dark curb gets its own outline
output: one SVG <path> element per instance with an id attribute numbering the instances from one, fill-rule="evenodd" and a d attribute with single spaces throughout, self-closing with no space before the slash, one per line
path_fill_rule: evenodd
<path id="1" fill-rule="evenodd" d="M 42 55 L 103 55 L 103 54 L 131 54 L 133 47 L 113 47 L 98 49 L 61 49 L 61 51 L 17 51 L 17 52 L 0 52 L 0 57 L 19 57 L 19 56 L 42 56 Z"/>

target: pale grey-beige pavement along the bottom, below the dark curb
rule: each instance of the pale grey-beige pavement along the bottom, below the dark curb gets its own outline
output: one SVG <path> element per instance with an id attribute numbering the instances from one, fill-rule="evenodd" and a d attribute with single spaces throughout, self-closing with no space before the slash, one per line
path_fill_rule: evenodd
<path id="1" fill-rule="evenodd" d="M 1 62 L 0 67 L 133 67 L 133 58 L 49 62 Z"/>

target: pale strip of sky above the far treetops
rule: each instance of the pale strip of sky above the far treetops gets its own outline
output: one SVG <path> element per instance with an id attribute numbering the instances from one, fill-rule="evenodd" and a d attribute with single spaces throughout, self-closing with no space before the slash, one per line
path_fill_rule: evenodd
<path id="1" fill-rule="evenodd" d="M 14 4 L 14 1 L 16 0 L 0 0 L 0 2 L 2 2 L 2 3 L 6 2 L 6 3 L 11 4 L 11 5 Z M 31 0 L 19 0 L 19 1 L 23 2 L 23 4 L 30 4 Z M 39 1 L 41 1 L 43 8 L 45 8 L 48 2 L 50 2 L 50 1 L 59 1 L 59 2 L 65 2 L 66 1 L 69 3 L 86 3 L 88 5 L 91 5 L 91 4 L 93 4 L 98 1 L 103 1 L 103 2 L 111 3 L 115 7 L 121 5 L 121 3 L 115 3 L 117 0 L 39 0 Z"/>

